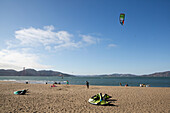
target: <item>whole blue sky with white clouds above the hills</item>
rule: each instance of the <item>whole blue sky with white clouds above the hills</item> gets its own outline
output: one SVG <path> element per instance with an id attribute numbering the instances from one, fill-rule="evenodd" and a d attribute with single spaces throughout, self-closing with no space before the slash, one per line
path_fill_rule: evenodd
<path id="1" fill-rule="evenodd" d="M 169 0 L 0 0 L 0 69 L 170 71 L 169 6 Z"/>

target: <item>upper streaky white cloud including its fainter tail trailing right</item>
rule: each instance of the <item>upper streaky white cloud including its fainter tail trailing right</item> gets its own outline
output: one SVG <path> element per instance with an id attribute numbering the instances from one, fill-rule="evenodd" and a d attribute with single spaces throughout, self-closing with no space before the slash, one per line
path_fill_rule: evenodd
<path id="1" fill-rule="evenodd" d="M 78 40 L 75 40 L 78 38 Z M 7 42 L 8 48 L 14 47 L 44 47 L 45 50 L 81 48 L 96 44 L 98 38 L 90 35 L 75 36 L 67 31 L 54 31 L 53 26 L 39 28 L 24 28 L 15 31 L 15 40 Z"/>

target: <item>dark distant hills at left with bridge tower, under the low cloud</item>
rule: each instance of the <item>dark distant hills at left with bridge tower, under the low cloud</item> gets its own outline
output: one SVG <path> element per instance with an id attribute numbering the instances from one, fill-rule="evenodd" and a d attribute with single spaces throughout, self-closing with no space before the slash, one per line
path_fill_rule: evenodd
<path id="1" fill-rule="evenodd" d="M 0 69 L 0 76 L 63 76 L 69 77 L 73 75 L 51 71 L 51 70 L 41 70 L 36 71 L 35 69 L 26 69 L 24 71 L 15 71 L 15 70 L 4 70 Z"/>

